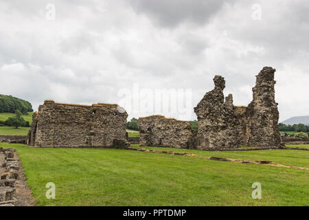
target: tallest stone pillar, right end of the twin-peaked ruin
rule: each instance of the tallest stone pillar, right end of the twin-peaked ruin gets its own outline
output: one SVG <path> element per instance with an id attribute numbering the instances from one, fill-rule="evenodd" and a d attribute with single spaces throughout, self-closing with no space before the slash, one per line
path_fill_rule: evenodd
<path id="1" fill-rule="evenodd" d="M 253 100 L 243 117 L 246 119 L 242 133 L 244 145 L 279 147 L 282 140 L 279 133 L 279 111 L 275 102 L 275 69 L 264 67 L 256 76 L 253 87 Z M 242 129 L 244 131 L 244 129 Z"/>

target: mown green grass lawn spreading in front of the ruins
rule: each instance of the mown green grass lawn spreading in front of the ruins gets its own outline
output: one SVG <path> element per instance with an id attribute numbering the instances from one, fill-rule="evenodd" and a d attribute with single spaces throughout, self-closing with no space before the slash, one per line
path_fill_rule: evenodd
<path id="1" fill-rule="evenodd" d="M 0 147 L 16 149 L 40 206 L 309 205 L 308 170 L 108 148 Z M 220 154 L 309 164 L 306 151 L 201 151 Z M 56 199 L 45 198 L 48 182 L 56 184 Z M 262 199 L 251 198 L 254 182 L 262 184 Z"/>

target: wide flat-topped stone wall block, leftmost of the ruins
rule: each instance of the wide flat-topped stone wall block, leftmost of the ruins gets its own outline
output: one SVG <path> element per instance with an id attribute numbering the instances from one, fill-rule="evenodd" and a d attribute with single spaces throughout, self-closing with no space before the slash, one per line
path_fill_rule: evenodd
<path id="1" fill-rule="evenodd" d="M 33 114 L 27 144 L 38 147 L 126 148 L 128 113 L 117 104 L 62 104 L 45 100 Z"/>

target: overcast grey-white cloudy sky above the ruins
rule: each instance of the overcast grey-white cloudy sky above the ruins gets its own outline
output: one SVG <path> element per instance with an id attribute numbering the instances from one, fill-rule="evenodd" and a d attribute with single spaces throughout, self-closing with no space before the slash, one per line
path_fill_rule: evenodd
<path id="1" fill-rule="evenodd" d="M 307 0 L 0 0 L 0 94 L 191 120 L 214 75 L 247 105 L 271 66 L 280 120 L 309 115 L 308 13 Z M 165 108 L 175 92 L 186 113 Z"/>

